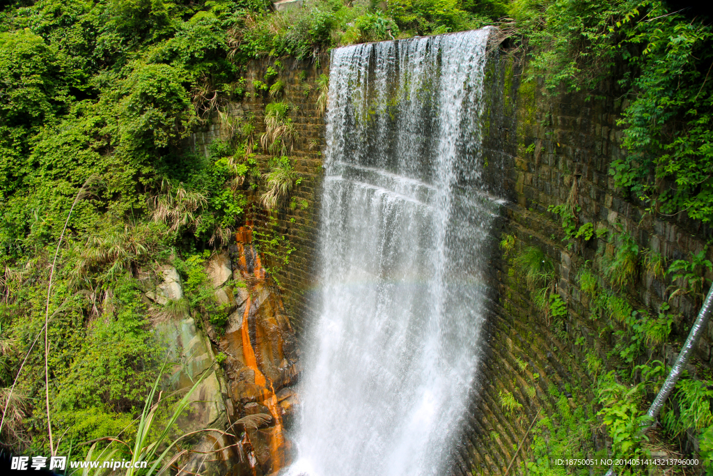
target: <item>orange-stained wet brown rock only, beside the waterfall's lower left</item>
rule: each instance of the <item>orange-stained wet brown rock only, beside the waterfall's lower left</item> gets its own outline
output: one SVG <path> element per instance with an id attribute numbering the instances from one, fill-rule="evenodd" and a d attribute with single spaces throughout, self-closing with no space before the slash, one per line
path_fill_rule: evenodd
<path id="1" fill-rule="evenodd" d="M 231 472 L 270 475 L 289 465 L 292 457 L 284 425 L 294 419 L 297 406 L 297 394 L 291 387 L 299 374 L 299 350 L 279 292 L 250 244 L 249 231 L 237 233 L 237 238 L 242 241 L 230 253 L 235 285 L 216 293 L 217 299 L 229 300 L 235 311 L 222 335 L 215 329 L 209 334 L 226 355 L 222 368 L 225 397 L 230 400 L 226 402 L 229 422 L 249 415 L 269 415 L 262 425 L 236 425 L 240 430 L 244 427 L 245 433 L 241 454 L 231 457 L 235 462 Z M 233 430 L 237 435 L 239 429 Z M 247 468 L 250 472 L 245 473 Z"/>

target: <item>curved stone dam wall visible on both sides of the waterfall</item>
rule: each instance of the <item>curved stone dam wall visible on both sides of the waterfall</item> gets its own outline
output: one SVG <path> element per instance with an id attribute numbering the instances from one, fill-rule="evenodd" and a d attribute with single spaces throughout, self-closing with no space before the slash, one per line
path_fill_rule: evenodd
<path id="1" fill-rule="evenodd" d="M 291 156 L 303 181 L 293 194 L 307 206 L 281 208 L 272 224 L 264 215 L 250 217 L 255 228 L 285 236 L 294 247 L 289 263 L 276 277 L 298 335 L 309 319 L 310 290 L 315 282 L 324 148 L 324 123 L 315 104 L 315 81 L 319 74 L 328 73 L 328 61 L 326 57 L 318 64 L 282 60 L 276 77 L 285 83 L 282 101 L 292 105 L 288 116 L 297 129 Z M 255 91 L 252 81 L 264 81 L 268 66 L 274 63 L 255 61 L 247 67 L 243 75 L 247 94 L 231 109 L 238 118 L 255 115 L 258 133 L 264 130 L 262 115 L 270 98 Z M 580 290 L 577 275 L 588 265 L 603 278 L 600 257 L 612 253 L 615 246 L 609 236 L 627 233 L 640 250 L 661 253 L 668 263 L 700 250 L 707 250 L 707 258 L 713 258 L 707 247 L 713 238 L 710 228 L 689 221 L 684 214 L 647 214 L 635 197 L 614 186 L 608 170 L 610 163 L 625 153 L 617 121 L 626 106 L 615 79 L 602 84 L 597 97 L 587 100 L 584 94 L 547 95 L 537 79 L 523 80 L 527 78 L 527 65 L 519 59 L 493 56 L 489 60 L 488 107 L 483 117 L 483 153 L 488 158 L 485 173 L 507 203 L 493 233 L 493 293 L 483 335 L 481 378 L 473 389 L 461 444 L 453 453 L 454 475 L 505 475 L 513 459 L 508 474 L 524 475 L 522 463 L 532 440 L 528 428 L 535 418 L 556 415 L 563 401 L 572 410 L 596 411 L 591 405 L 595 374 L 601 375 L 617 363 L 611 357 L 617 337 L 614 330 L 606 328 L 605 320 L 591 312 L 592 303 Z M 207 153 L 207 145 L 219 134 L 217 122 L 210 124 L 191 138 L 190 147 Z M 259 156 L 258 160 L 264 166 L 267 157 Z M 565 203 L 573 186 L 581 207 L 578 225 L 593 223 L 593 230 L 600 231 L 602 238 L 595 235 L 588 241 L 563 240 L 560 217 L 548 212 L 548 207 Z M 515 238 L 511 254 L 498 248 L 505 236 Z M 532 295 L 513 266 L 512 253 L 530 245 L 543 250 L 553 262 L 556 292 L 568 308 L 564 318 L 547 318 L 536 310 Z M 632 308 L 655 314 L 669 298 L 670 282 L 641 264 L 637 273 L 634 285 L 625 291 L 626 298 Z M 662 360 L 670 365 L 675 359 L 697 313 L 697 303 L 691 295 L 679 295 L 670 300 L 670 305 L 669 313 L 679 315 L 672 326 L 672 338 L 679 343 L 648 349 L 640 356 L 640 363 Z M 695 375 L 698 369 L 709 370 L 712 354 L 713 323 L 709 323 L 697 349 L 696 363 L 689 371 Z M 604 368 L 588 365 L 597 359 Z M 511 395 L 519 410 L 508 410 L 503 395 Z M 595 450 L 605 456 L 602 430 L 595 431 L 591 440 Z M 515 455 L 521 443 L 523 448 Z M 693 444 L 687 442 L 689 449 Z"/>

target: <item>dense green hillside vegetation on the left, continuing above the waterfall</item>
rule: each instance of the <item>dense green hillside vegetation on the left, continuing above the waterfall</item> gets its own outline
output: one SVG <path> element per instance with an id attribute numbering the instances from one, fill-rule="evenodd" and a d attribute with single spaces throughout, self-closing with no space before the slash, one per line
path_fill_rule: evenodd
<path id="1" fill-rule="evenodd" d="M 282 14 L 265 0 L 4 2 L 3 444 L 49 454 L 47 407 L 61 452 L 74 445 L 85 453 L 89 446 L 78 443 L 119 432 L 133 438 L 165 355 L 152 320 L 203 313 L 220 332 L 226 316 L 202 271 L 210 249 L 230 240 L 248 209 L 304 208 L 287 201 L 301 178 L 289 158 L 294 127 L 289 104 L 279 101 L 279 61 L 252 84 L 267 104 L 265 133 L 258 135 L 255 117 L 227 115 L 246 93 L 247 61 L 319 61 L 332 46 L 475 28 L 504 12 L 496 1 L 451 0 L 317 0 Z M 312 86 L 322 111 L 327 81 Z M 211 114 L 220 140 L 207 158 L 188 153 L 183 141 Z M 258 152 L 272 156 L 267 170 L 257 166 Z M 270 230 L 255 236 L 268 269 L 294 250 Z M 169 262 L 185 298 L 149 306 L 138 270 Z"/>

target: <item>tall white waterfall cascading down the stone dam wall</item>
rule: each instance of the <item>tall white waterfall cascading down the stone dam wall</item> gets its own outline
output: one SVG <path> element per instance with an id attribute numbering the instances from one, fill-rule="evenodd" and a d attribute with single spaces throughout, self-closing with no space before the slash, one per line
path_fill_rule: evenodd
<path id="1" fill-rule="evenodd" d="M 448 473 L 486 306 L 488 30 L 332 52 L 319 225 L 289 475 Z"/>

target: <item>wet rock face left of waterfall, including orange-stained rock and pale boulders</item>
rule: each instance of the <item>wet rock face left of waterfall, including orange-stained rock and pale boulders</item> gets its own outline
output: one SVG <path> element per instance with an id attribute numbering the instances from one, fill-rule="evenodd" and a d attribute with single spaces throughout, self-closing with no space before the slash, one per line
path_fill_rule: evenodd
<path id="1" fill-rule="evenodd" d="M 186 433 L 199 430 L 180 475 L 275 475 L 292 459 L 284 427 L 294 421 L 299 403 L 294 330 L 250 243 L 252 233 L 243 228 L 236 238 L 230 253 L 213 256 L 206 266 L 215 300 L 232 310 L 225 328 L 212 325 L 210 315 L 156 324 L 173 358 L 185 360 L 171 378 L 176 390 L 188 390 L 210 373 L 191 395 L 190 414 L 178 422 Z M 183 297 L 180 276 L 169 266 L 147 277 L 144 288 L 153 303 Z M 225 355 L 220 365 L 219 353 Z"/>

